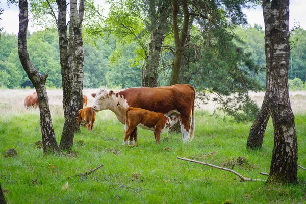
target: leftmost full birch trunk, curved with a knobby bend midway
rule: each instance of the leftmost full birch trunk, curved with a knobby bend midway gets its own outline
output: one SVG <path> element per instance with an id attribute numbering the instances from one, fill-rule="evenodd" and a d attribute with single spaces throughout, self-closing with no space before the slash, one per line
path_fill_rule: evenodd
<path id="1" fill-rule="evenodd" d="M 48 74 L 41 75 L 30 61 L 27 49 L 27 31 L 28 31 L 28 2 L 19 1 L 19 33 L 18 33 L 18 54 L 24 71 L 34 85 L 39 104 L 40 129 L 42 134 L 43 151 L 60 152 L 52 126 L 51 113 L 49 109 L 49 99 L 45 87 Z"/>

